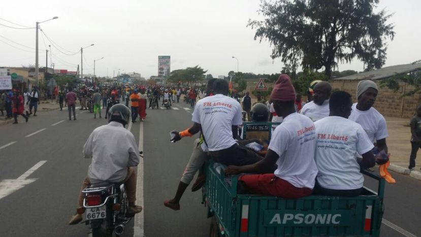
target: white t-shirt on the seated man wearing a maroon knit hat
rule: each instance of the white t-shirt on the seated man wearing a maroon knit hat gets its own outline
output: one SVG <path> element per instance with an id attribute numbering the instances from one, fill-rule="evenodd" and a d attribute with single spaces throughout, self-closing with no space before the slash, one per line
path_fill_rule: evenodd
<path id="1" fill-rule="evenodd" d="M 316 144 L 314 123 L 294 113 L 286 116 L 275 128 L 268 149 L 279 155 L 274 174 L 297 188 L 314 188 L 317 166 L 314 161 Z"/>

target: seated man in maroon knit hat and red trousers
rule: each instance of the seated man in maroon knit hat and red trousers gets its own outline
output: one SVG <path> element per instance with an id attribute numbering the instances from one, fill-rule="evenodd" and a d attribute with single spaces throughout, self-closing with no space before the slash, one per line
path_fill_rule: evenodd
<path id="1" fill-rule="evenodd" d="M 226 175 L 242 175 L 239 184 L 255 194 L 300 198 L 312 193 L 317 167 L 314 161 L 315 126 L 310 118 L 295 111 L 295 89 L 288 75 L 282 74 L 271 93 L 274 109 L 283 122 L 275 128 L 263 160 L 245 166 L 228 166 Z M 273 166 L 278 168 L 273 174 Z"/>

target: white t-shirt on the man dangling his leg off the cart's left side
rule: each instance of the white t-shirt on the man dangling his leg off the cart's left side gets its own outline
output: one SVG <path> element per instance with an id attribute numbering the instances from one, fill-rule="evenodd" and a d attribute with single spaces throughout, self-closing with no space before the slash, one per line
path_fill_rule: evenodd
<path id="1" fill-rule="evenodd" d="M 209 151 L 229 148 L 236 144 L 232 126 L 243 123 L 240 103 L 222 94 L 205 97 L 196 103 L 192 121 L 202 125 Z"/>

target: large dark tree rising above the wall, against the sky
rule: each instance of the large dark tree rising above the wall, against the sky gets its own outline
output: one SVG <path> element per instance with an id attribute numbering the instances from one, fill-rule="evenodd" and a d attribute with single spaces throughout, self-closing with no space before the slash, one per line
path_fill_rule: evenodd
<path id="1" fill-rule="evenodd" d="M 265 20 L 249 20 L 256 28 L 254 40 L 273 46 L 271 57 L 280 57 L 284 71 L 325 68 L 328 78 L 338 62 L 357 57 L 369 69 L 380 68 L 386 58 L 387 38 L 393 40 L 392 16 L 373 12 L 378 0 L 262 0 L 259 14 Z M 294 76 L 293 76 L 294 77 Z"/>

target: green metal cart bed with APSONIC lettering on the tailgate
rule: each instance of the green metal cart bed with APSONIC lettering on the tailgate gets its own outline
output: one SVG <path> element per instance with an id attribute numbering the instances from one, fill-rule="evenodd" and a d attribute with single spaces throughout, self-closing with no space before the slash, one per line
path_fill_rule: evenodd
<path id="1" fill-rule="evenodd" d="M 209 161 L 203 201 L 212 217 L 211 236 L 379 236 L 384 180 L 378 192 L 357 197 L 311 195 L 299 199 L 237 194 L 237 176 Z"/>

